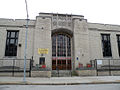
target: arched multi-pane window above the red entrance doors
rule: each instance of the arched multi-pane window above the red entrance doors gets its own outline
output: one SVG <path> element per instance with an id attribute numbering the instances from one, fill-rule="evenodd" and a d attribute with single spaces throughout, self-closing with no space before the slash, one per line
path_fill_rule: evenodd
<path id="1" fill-rule="evenodd" d="M 52 56 L 71 56 L 71 38 L 64 34 L 52 36 Z"/>

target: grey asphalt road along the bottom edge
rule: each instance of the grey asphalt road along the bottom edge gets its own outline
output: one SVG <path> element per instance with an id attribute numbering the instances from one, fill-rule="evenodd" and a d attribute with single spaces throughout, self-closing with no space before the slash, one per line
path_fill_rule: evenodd
<path id="1" fill-rule="evenodd" d="M 0 90 L 120 90 L 120 84 L 0 85 Z"/>

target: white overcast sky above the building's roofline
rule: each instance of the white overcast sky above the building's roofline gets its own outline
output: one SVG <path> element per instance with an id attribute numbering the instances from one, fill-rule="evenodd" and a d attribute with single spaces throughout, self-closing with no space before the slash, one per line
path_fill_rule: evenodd
<path id="1" fill-rule="evenodd" d="M 29 18 L 40 12 L 84 15 L 88 22 L 120 25 L 120 0 L 27 0 Z M 25 19 L 25 0 L 0 0 L 0 18 Z"/>

